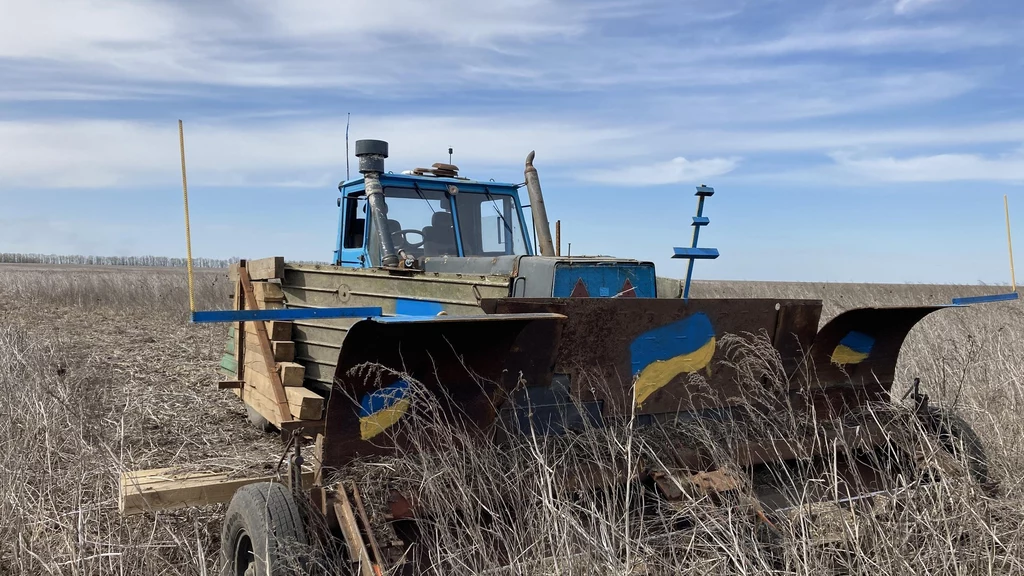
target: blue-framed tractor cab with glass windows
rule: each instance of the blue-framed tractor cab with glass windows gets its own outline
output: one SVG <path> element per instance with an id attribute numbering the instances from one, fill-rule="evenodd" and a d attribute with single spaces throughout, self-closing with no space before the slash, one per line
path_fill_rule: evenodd
<path id="1" fill-rule="evenodd" d="M 517 187 L 461 178 L 447 164 L 379 176 L 386 236 L 401 265 L 420 268 L 438 256 L 532 254 Z M 442 174 L 442 175 L 438 175 Z M 343 182 L 335 263 L 383 265 L 384 251 L 371 217 L 366 178 Z"/>

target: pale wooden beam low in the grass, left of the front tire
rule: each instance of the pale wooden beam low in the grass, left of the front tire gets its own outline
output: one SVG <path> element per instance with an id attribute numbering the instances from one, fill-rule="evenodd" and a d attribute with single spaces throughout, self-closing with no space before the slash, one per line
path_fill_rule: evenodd
<path id="1" fill-rule="evenodd" d="M 230 478 L 217 472 L 180 472 L 169 468 L 121 475 L 118 509 L 124 516 L 226 502 L 243 486 L 275 482 L 274 477 Z M 313 471 L 303 470 L 302 484 L 312 486 Z"/>

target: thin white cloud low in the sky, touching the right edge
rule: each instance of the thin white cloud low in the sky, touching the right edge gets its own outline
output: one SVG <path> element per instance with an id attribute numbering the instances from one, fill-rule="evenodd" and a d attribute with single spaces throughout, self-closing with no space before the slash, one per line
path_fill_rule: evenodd
<path id="1" fill-rule="evenodd" d="M 902 182 L 972 180 L 1024 183 L 1024 149 L 996 157 L 978 154 L 936 154 L 894 158 L 858 157 L 847 153 L 834 153 L 831 157 L 839 167 L 865 179 Z"/>

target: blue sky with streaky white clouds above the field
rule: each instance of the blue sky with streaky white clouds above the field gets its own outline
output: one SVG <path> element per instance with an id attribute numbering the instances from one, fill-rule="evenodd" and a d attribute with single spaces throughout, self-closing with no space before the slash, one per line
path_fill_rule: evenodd
<path id="1" fill-rule="evenodd" d="M 351 137 L 537 166 L 574 254 L 700 278 L 1007 282 L 1012 0 L 0 0 L 0 252 L 328 259 Z M 1024 240 L 1019 252 L 1024 253 Z"/>

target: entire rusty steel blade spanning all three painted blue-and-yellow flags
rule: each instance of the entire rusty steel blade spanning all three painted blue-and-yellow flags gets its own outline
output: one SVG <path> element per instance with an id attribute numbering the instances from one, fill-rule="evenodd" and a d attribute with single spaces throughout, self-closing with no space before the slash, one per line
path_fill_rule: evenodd
<path id="1" fill-rule="evenodd" d="M 599 423 L 630 416 L 641 423 L 703 417 L 742 420 L 753 406 L 752 399 L 759 410 L 791 406 L 813 408 L 819 416 L 837 416 L 868 402 L 888 400 L 907 332 L 941 307 L 849 311 L 818 332 L 821 304 L 817 300 L 483 298 L 479 305 L 485 316 L 415 322 L 384 319 L 362 321 L 351 328 L 328 406 L 326 465 L 340 466 L 358 454 L 385 453 L 403 443 L 401 434 L 360 438 L 359 399 L 398 378 L 382 378 L 380 370 L 353 371 L 368 363 L 419 380 L 426 389 L 439 393 L 444 410 L 454 418 L 481 430 L 495 422 L 512 390 L 538 388 L 548 394 L 541 388 L 551 386 L 556 374 L 568 378 L 569 402 L 600 406 Z M 710 345 L 701 347 L 701 340 L 687 344 L 683 340 L 692 334 L 685 330 L 669 332 L 668 338 L 683 341 L 680 345 L 689 345 L 682 348 L 685 353 L 697 351 L 693 354 L 706 355 L 702 359 L 683 362 L 679 369 L 672 363 L 686 354 L 668 360 L 656 357 L 646 364 L 638 361 L 642 356 L 638 349 L 664 343 L 659 340 L 666 337 L 664 327 L 686 328 L 697 317 L 706 323 L 709 332 L 700 333 Z M 848 338 L 852 332 L 871 340 L 869 349 L 863 348 L 867 353 L 854 360 L 837 352 L 842 342 L 852 342 Z M 727 346 L 715 345 L 725 334 L 749 333 L 763 334 L 775 346 L 790 379 L 787 390 L 770 388 L 757 378 L 737 377 L 728 363 Z M 858 347 L 856 342 L 850 345 Z M 846 364 L 837 363 L 837 358 Z M 658 368 L 660 380 L 641 395 L 645 366 Z M 827 434 L 819 430 L 817 436 Z M 756 465 L 795 457 L 807 449 L 798 440 L 737 446 L 736 461 Z M 827 445 L 827 440 L 822 437 L 815 444 Z M 679 450 L 687 453 L 686 447 Z M 683 459 L 692 461 L 679 462 L 681 466 L 700 469 L 700 454 Z"/>

